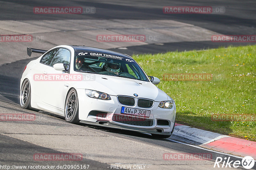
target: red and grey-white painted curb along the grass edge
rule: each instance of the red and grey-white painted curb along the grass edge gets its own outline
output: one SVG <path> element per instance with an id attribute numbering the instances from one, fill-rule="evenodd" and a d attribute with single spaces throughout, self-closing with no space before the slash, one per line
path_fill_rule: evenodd
<path id="1" fill-rule="evenodd" d="M 251 156 L 256 160 L 256 142 L 192 128 L 183 124 L 175 124 L 170 138 L 219 152 L 242 157 Z"/>

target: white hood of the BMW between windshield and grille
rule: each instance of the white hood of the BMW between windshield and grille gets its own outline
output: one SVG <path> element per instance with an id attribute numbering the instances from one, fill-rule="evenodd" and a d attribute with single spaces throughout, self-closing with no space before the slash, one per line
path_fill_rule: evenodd
<path id="1" fill-rule="evenodd" d="M 87 81 L 76 82 L 77 89 L 97 90 L 112 96 L 135 97 L 133 94 L 137 94 L 138 98 L 148 98 L 158 102 L 168 100 L 168 96 L 151 82 L 102 74 L 81 74 Z M 88 80 L 88 76 L 91 77 L 90 80 Z"/>

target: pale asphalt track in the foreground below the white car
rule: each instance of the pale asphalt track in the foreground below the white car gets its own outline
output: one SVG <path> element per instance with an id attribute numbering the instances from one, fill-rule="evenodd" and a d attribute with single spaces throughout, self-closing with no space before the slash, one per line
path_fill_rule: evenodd
<path id="1" fill-rule="evenodd" d="M 150 134 L 69 124 L 62 117 L 49 113 L 24 110 L 17 104 L 2 101 L 0 104 L 4 113 L 35 114 L 36 117 L 35 121 L 1 122 L 1 165 L 82 164 L 90 165 L 90 169 L 110 169 L 110 165 L 142 164 L 148 167 L 146 169 L 213 169 L 216 157 L 229 157 L 168 139 L 152 138 Z M 37 161 L 33 159 L 37 153 L 80 153 L 83 160 Z M 163 153 L 203 153 L 211 154 L 212 159 L 171 161 L 163 160 Z M 230 156 L 232 160 L 242 159 Z"/>

